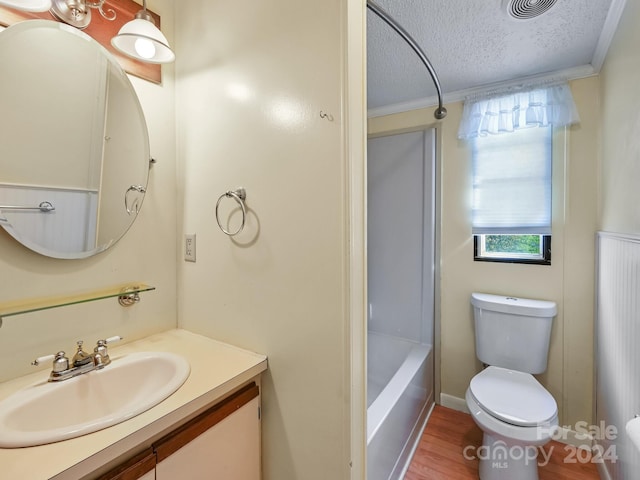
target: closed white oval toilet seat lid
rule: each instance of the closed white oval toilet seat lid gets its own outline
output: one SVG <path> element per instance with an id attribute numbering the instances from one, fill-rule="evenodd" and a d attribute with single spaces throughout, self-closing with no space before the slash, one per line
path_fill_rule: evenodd
<path id="1" fill-rule="evenodd" d="M 485 412 L 512 425 L 547 424 L 558 412 L 554 398 L 529 373 L 487 367 L 471 379 L 469 392 Z"/>

